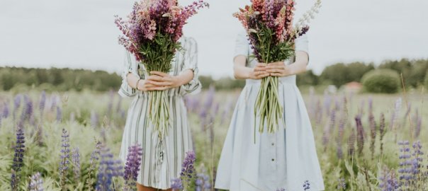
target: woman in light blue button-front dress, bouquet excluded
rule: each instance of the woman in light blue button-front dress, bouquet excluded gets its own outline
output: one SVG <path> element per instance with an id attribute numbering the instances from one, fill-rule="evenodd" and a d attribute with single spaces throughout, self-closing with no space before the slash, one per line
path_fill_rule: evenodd
<path id="1" fill-rule="evenodd" d="M 308 181 L 309 190 L 324 190 L 308 112 L 295 85 L 295 74 L 305 71 L 309 61 L 307 36 L 295 40 L 295 59 L 268 66 L 258 63 L 251 54 L 246 33 L 240 33 L 234 71 L 235 78 L 245 79 L 246 85 L 230 122 L 215 187 L 231 191 L 300 191 Z M 280 77 L 278 91 L 286 128 L 280 127 L 274 134 L 264 128 L 265 132 L 257 132 L 254 143 L 254 103 L 260 79 L 269 75 Z"/>

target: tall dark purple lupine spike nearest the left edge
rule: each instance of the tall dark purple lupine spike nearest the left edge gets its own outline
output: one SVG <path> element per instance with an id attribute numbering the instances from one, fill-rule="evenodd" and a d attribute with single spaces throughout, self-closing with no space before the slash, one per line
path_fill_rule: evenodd
<path id="1" fill-rule="evenodd" d="M 23 166 L 24 151 L 26 149 L 25 142 L 26 137 L 22 127 L 16 129 L 16 145 L 15 145 L 15 156 L 13 157 L 12 163 L 12 175 L 11 175 L 11 188 L 12 190 L 18 190 L 18 184 L 21 181 L 19 172 Z"/>

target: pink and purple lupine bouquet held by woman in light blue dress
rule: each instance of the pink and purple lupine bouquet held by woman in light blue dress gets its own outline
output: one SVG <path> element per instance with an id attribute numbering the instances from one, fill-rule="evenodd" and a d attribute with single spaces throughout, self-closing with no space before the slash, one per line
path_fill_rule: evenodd
<path id="1" fill-rule="evenodd" d="M 293 16 L 294 0 L 252 0 L 252 4 L 240 8 L 233 16 L 238 18 L 249 37 L 254 57 L 261 63 L 280 62 L 294 54 L 295 38 L 308 30 L 310 18 L 318 12 L 321 1 L 307 11 L 295 26 Z M 278 77 L 267 76 L 261 79 L 255 103 L 254 115 L 260 116 L 259 132 L 264 131 L 266 122 L 268 132 L 276 132 L 282 118 L 283 108 L 278 100 Z M 256 122 L 254 122 L 254 136 Z M 255 140 L 255 137 L 254 137 Z"/>

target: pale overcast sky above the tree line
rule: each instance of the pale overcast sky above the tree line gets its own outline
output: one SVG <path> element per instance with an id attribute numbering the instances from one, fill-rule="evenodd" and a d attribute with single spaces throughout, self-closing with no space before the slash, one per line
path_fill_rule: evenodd
<path id="1" fill-rule="evenodd" d="M 296 17 L 315 0 L 296 0 Z M 191 1 L 182 0 L 186 5 Z M 235 37 L 242 27 L 232 13 L 243 0 L 211 0 L 185 27 L 198 41 L 201 74 L 232 76 Z M 324 0 L 309 32 L 310 69 L 336 62 L 428 58 L 427 0 Z M 113 15 L 125 17 L 126 0 L 1 0 L 0 66 L 122 70 Z"/>

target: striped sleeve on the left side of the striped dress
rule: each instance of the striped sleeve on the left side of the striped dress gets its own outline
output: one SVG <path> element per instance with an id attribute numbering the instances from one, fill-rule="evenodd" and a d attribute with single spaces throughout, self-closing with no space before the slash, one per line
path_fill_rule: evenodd
<path id="1" fill-rule="evenodd" d="M 137 72 L 137 63 L 130 59 L 130 55 L 128 54 L 128 62 L 125 62 L 123 66 L 122 76 L 122 84 L 120 85 L 120 89 L 118 91 L 119 95 L 123 98 L 132 98 L 137 94 L 137 90 L 129 86 L 128 81 L 126 80 L 126 75 L 129 73 L 138 75 Z"/>

